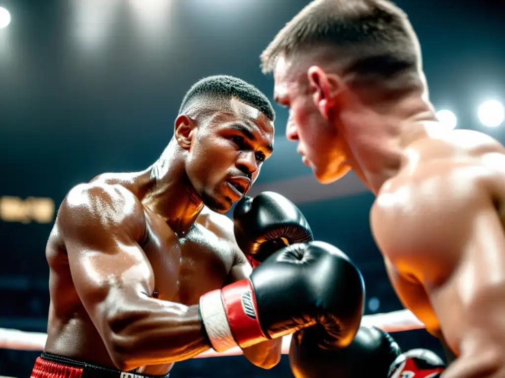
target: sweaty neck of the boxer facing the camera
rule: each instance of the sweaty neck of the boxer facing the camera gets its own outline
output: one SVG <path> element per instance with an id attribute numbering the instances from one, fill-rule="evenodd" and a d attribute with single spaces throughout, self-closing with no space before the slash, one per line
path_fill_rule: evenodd
<path id="1" fill-rule="evenodd" d="M 204 208 L 184 169 L 184 153 L 171 142 L 150 167 L 151 187 L 142 203 L 164 218 L 179 236 L 186 234 Z"/>

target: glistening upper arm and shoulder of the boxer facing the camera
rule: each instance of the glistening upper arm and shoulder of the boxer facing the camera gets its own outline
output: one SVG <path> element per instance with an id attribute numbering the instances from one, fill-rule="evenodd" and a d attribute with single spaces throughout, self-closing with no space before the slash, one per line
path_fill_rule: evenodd
<path id="1" fill-rule="evenodd" d="M 154 288 L 152 268 L 137 243 L 145 229 L 141 204 L 118 185 L 78 185 L 58 223 L 76 291 L 97 330 L 121 306 Z"/>

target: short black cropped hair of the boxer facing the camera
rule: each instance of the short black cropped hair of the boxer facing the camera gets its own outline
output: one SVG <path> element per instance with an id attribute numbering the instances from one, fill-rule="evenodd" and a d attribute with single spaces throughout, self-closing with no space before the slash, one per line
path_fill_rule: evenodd
<path id="1" fill-rule="evenodd" d="M 275 120 L 274 108 L 263 92 L 241 79 L 226 75 L 209 76 L 195 83 L 184 96 L 179 114 L 226 111 L 231 98 L 260 110 L 271 121 Z"/>

